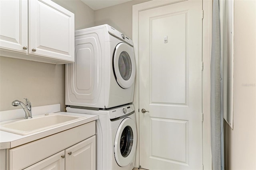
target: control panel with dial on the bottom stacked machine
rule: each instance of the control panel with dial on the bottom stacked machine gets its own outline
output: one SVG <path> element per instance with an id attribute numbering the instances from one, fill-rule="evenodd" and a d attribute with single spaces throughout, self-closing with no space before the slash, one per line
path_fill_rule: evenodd
<path id="1" fill-rule="evenodd" d="M 133 104 L 121 106 L 121 107 L 109 110 L 108 113 L 109 113 L 110 119 L 116 119 L 120 117 L 123 118 L 134 113 L 134 106 Z"/>

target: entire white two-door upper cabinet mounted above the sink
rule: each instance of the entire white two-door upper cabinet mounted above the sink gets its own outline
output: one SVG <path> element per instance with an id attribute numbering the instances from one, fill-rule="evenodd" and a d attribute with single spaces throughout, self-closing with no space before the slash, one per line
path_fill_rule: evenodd
<path id="1" fill-rule="evenodd" d="M 54 64 L 74 62 L 72 12 L 51 0 L 4 0 L 0 9 L 1 56 Z"/>

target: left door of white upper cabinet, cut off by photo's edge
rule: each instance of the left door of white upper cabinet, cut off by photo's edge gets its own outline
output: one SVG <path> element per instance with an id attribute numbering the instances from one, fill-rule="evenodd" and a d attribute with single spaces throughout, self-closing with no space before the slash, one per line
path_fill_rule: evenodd
<path id="1" fill-rule="evenodd" d="M 27 52 L 28 1 L 0 0 L 0 48 Z"/>

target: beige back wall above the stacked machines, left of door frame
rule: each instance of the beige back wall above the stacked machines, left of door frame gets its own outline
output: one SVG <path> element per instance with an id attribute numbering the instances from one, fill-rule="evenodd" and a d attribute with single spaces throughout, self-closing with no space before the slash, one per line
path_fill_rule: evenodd
<path id="1" fill-rule="evenodd" d="M 95 26 L 109 24 L 126 36 L 132 38 L 132 5 L 149 0 L 132 0 L 94 12 Z"/>

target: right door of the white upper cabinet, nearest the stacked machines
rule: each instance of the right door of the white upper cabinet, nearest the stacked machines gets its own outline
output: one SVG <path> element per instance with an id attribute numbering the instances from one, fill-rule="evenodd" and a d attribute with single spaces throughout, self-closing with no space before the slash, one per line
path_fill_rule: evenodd
<path id="1" fill-rule="evenodd" d="M 74 62 L 74 14 L 51 0 L 28 3 L 28 53 Z"/>

